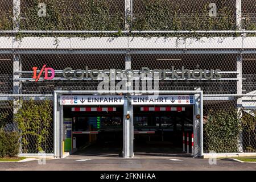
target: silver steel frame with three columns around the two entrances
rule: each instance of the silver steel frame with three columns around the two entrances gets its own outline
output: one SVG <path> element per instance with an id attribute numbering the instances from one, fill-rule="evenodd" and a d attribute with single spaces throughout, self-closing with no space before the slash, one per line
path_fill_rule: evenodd
<path id="1" fill-rule="evenodd" d="M 193 156 L 203 156 L 203 91 L 158 91 L 159 94 L 193 94 L 196 96 L 194 104 L 194 134 L 195 136 L 195 150 Z M 123 104 L 123 158 L 133 158 L 133 140 L 134 140 L 134 126 L 133 126 L 133 105 L 131 104 L 130 94 L 148 94 L 147 91 L 122 91 L 125 94 Z M 53 94 L 53 122 L 54 122 L 54 155 L 57 158 L 63 157 L 63 106 L 60 105 L 60 96 L 62 94 L 98 94 L 109 95 L 106 91 L 63 91 L 55 90 Z M 113 91 L 111 91 L 113 94 Z M 118 93 L 117 93 L 118 94 Z M 200 111 L 200 113 L 199 113 Z M 196 118 L 199 114 L 200 118 Z M 128 117 L 130 116 L 130 118 Z"/>

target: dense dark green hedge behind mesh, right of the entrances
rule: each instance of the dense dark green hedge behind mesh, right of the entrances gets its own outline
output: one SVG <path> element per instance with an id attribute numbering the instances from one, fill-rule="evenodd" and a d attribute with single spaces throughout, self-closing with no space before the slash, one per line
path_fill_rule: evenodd
<path id="1" fill-rule="evenodd" d="M 210 112 L 204 124 L 205 149 L 208 152 L 238 152 L 241 130 L 236 109 Z"/>

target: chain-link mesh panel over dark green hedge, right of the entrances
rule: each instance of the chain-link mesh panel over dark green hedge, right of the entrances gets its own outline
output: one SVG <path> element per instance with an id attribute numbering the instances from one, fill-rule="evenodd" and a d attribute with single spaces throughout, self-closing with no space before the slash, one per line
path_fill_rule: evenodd
<path id="1" fill-rule="evenodd" d="M 236 100 L 204 101 L 204 152 L 255 152 L 255 119 L 255 111 L 237 109 Z"/>

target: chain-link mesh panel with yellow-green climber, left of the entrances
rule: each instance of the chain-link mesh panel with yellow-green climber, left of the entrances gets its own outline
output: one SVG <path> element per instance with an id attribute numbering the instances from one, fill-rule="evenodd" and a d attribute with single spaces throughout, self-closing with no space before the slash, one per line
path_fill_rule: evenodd
<path id="1" fill-rule="evenodd" d="M 21 153 L 53 153 L 53 103 L 51 98 L 0 97 L 0 127 L 19 131 Z M 8 98 L 9 100 L 5 100 Z M 43 99 L 43 100 L 42 100 Z"/>

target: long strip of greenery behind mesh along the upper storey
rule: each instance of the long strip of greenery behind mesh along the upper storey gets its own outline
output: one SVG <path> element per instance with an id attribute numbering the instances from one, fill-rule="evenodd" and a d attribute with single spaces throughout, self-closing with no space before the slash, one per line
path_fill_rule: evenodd
<path id="1" fill-rule="evenodd" d="M 30 0 L 22 5 L 20 30 L 125 30 L 125 8 L 113 0 Z M 38 15 L 39 3 L 46 3 L 47 14 Z M 74 3 L 75 2 L 75 3 Z M 141 0 L 134 5 L 132 30 L 237 30 L 234 5 L 217 2 L 217 17 L 210 17 L 208 3 L 190 7 L 186 1 Z M 13 13 L 0 12 L 0 30 L 12 30 Z M 244 15 L 246 16 L 246 15 Z M 253 18 L 245 17 L 243 27 L 256 30 Z M 32 35 L 34 36 L 34 35 Z M 49 36 L 49 35 L 40 35 Z M 52 35 L 51 35 L 52 36 Z M 57 35 L 56 35 L 57 36 Z M 58 35 L 67 36 L 67 35 Z M 69 36 L 110 36 L 69 35 Z M 115 36 L 123 36 L 117 34 Z M 137 36 L 137 35 L 132 35 Z M 146 35 L 148 36 L 148 35 Z M 152 35 L 149 35 L 152 36 Z M 154 36 L 177 36 L 176 34 Z M 187 35 L 179 35 L 187 36 Z M 197 36 L 197 35 L 189 35 Z M 207 35 L 198 35 L 207 36 Z M 218 36 L 230 36 L 227 34 Z M 232 35 L 236 36 L 236 35 Z M 255 34 L 248 34 L 255 36 Z"/>

